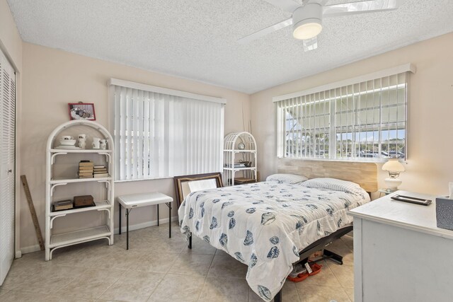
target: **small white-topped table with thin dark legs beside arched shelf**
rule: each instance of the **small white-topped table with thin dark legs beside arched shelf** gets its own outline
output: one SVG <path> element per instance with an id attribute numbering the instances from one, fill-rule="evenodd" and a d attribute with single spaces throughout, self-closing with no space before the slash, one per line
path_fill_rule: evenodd
<path id="1" fill-rule="evenodd" d="M 126 250 L 129 250 L 129 214 L 138 207 L 157 206 L 157 226 L 159 226 L 159 204 L 168 207 L 168 237 L 171 238 L 171 203 L 173 198 L 159 192 L 122 195 L 118 197 L 120 208 L 120 234 L 121 234 L 121 208 L 126 209 Z"/>

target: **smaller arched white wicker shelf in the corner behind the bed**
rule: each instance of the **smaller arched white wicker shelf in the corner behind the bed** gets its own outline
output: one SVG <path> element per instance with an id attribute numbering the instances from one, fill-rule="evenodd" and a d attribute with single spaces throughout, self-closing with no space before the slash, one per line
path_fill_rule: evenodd
<path id="1" fill-rule="evenodd" d="M 243 164 L 241 166 L 238 164 Z M 224 185 L 256 182 L 256 141 L 248 132 L 234 132 L 224 137 Z M 241 173 L 236 175 L 236 172 Z"/>

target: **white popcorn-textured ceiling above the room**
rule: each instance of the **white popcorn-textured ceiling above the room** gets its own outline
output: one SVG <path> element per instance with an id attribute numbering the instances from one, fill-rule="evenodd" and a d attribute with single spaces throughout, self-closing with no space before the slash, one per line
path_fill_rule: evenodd
<path id="1" fill-rule="evenodd" d="M 247 45 L 236 42 L 290 17 L 263 0 L 8 4 L 26 42 L 245 93 L 453 31 L 452 0 L 401 0 L 397 11 L 326 18 L 319 48 L 311 52 L 292 38 L 290 27 Z"/>

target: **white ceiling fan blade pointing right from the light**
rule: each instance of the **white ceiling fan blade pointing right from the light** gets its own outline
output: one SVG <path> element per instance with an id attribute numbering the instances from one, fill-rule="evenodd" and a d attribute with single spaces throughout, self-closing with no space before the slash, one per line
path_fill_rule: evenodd
<path id="1" fill-rule="evenodd" d="M 357 13 L 375 13 L 393 11 L 399 6 L 399 0 L 372 0 L 346 4 L 328 5 L 323 7 L 323 17 L 339 17 Z"/>

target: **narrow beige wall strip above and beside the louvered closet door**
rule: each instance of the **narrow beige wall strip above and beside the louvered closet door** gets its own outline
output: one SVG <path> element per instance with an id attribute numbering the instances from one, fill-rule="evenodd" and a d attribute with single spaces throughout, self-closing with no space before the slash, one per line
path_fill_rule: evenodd
<path id="1" fill-rule="evenodd" d="M 19 35 L 16 23 L 9 10 L 6 0 L 0 0 L 0 50 L 6 54 L 9 62 L 16 70 L 16 137 L 21 136 L 21 98 L 22 98 L 22 39 Z M 16 153 L 21 147 L 20 139 L 16 140 Z M 16 156 L 16 209 L 20 208 L 19 189 L 21 180 L 19 178 L 20 159 Z M 16 211 L 16 238 L 20 235 L 21 217 Z M 16 240 L 16 257 L 21 257 L 20 244 Z"/>

